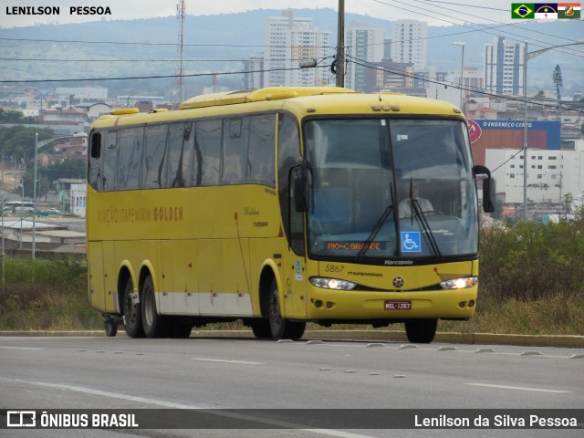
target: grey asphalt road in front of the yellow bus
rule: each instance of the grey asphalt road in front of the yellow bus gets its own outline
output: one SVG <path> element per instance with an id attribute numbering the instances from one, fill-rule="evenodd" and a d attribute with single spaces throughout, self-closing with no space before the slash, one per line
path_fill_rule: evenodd
<path id="1" fill-rule="evenodd" d="M 421 417 L 425 409 L 456 417 L 461 409 L 554 409 L 563 415 L 584 408 L 583 368 L 584 349 L 550 347 L 0 337 L 0 410 L 157 409 L 154 415 L 163 415 L 160 409 L 168 408 L 280 413 L 405 408 Z M 286 414 L 278 421 L 298 424 Z M 582 436 L 581 429 L 270 427 L 266 422 L 251 431 L 0 429 L 0 436 Z"/>

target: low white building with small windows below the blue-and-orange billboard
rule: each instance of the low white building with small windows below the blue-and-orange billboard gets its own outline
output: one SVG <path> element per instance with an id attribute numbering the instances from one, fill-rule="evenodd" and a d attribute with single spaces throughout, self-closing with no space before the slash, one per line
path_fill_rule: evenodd
<path id="1" fill-rule="evenodd" d="M 523 203 L 523 151 L 487 149 L 485 165 L 493 172 L 496 192 L 505 193 L 505 203 Z M 567 193 L 580 199 L 584 193 L 584 141 L 575 151 L 527 149 L 527 200 L 559 204 Z"/>

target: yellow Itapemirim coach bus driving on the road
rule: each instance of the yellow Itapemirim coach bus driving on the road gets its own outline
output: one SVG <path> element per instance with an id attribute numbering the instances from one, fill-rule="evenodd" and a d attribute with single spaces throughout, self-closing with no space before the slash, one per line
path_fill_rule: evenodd
<path id="1" fill-rule="evenodd" d="M 89 141 L 89 300 L 110 336 L 243 320 L 299 339 L 311 321 L 431 342 L 474 315 L 490 173 L 447 102 L 241 90 L 114 110 Z"/>

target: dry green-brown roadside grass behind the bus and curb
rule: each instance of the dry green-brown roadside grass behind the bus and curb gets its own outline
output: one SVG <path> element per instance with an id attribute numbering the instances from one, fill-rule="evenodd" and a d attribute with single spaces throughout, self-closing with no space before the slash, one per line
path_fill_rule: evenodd
<path id="1" fill-rule="evenodd" d="M 89 306 L 84 260 L 6 259 L 0 291 L 0 330 L 102 330 L 99 312 Z M 543 274 L 547 276 L 547 274 Z M 484 278 L 478 307 L 469 321 L 440 321 L 438 331 L 521 335 L 583 335 L 584 294 L 556 291 L 543 297 L 505 295 L 497 281 Z M 537 294 L 540 296 L 540 294 Z M 206 329 L 244 329 L 240 322 Z M 371 329 L 337 325 L 333 329 Z M 308 329 L 326 329 L 308 324 Z M 402 330 L 397 324 L 381 330 Z"/>

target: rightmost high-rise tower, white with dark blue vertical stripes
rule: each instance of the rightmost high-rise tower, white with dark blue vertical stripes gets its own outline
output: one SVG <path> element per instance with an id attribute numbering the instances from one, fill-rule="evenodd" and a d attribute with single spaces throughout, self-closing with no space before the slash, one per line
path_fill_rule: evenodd
<path id="1" fill-rule="evenodd" d="M 525 45 L 503 36 L 485 44 L 485 90 L 496 94 L 523 96 Z"/>

